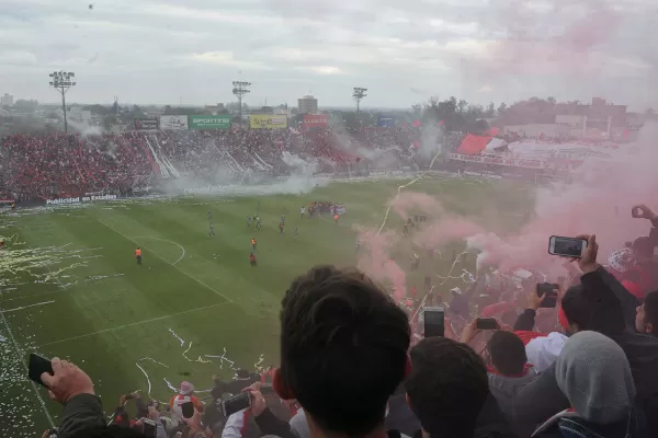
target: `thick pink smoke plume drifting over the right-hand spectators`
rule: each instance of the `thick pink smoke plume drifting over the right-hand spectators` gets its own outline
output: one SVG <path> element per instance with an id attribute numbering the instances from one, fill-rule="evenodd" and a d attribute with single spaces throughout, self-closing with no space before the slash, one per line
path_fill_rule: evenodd
<path id="1" fill-rule="evenodd" d="M 564 274 L 564 260 L 548 254 L 551 235 L 595 233 L 599 262 L 603 264 L 625 242 L 648 235 L 650 223 L 633 219 L 631 209 L 637 204 L 648 204 L 658 212 L 658 149 L 654 147 L 657 138 L 658 124 L 648 124 L 640 131 L 638 145 L 620 146 L 613 150 L 612 159 L 586 160 L 568 184 L 537 188 L 534 218 L 512 232 L 497 234 L 495 223 L 488 218 L 492 215 L 473 220 L 445 212 L 441 203 L 429 194 L 401 193 L 392 208 L 402 219 L 411 214 L 428 214 L 430 222 L 422 223 L 413 233 L 417 245 L 434 249 L 451 241 L 465 241 L 468 247 L 480 251 L 478 268 L 483 264 L 501 272 L 525 268 L 555 278 Z M 634 148 L 639 154 L 629 154 Z M 498 216 L 504 215 L 500 211 Z M 360 267 L 375 278 L 390 280 L 401 297 L 405 273 L 389 256 L 401 242 L 400 231 L 388 230 L 378 235 L 374 231 L 362 232 L 360 239 L 368 242 L 371 251 L 361 255 Z"/>

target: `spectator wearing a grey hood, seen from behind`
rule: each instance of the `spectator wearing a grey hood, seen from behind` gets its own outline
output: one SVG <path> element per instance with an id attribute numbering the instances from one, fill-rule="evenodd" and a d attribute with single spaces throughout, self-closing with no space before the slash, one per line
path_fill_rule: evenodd
<path id="1" fill-rule="evenodd" d="M 578 332 L 557 358 L 555 376 L 572 410 L 553 416 L 533 437 L 648 437 L 644 414 L 634 407 L 628 359 L 611 338 Z"/>

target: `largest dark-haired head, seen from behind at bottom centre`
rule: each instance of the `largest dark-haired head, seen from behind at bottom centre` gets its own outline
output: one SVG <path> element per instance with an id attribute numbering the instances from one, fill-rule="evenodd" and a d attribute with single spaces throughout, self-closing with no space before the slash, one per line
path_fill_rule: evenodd
<path id="1" fill-rule="evenodd" d="M 297 399 L 311 428 L 368 434 L 405 378 L 409 341 L 407 315 L 365 275 L 314 267 L 282 301 L 275 388 Z"/>

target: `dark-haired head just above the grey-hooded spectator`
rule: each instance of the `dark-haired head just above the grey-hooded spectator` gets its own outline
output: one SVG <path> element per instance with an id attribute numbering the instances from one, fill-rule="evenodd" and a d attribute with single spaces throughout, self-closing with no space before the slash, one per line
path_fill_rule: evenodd
<path id="1" fill-rule="evenodd" d="M 569 333 L 593 331 L 614 336 L 626 327 L 621 306 L 599 306 L 598 301 L 587 299 L 582 285 L 571 286 L 561 300 L 561 309 L 569 325 Z"/>

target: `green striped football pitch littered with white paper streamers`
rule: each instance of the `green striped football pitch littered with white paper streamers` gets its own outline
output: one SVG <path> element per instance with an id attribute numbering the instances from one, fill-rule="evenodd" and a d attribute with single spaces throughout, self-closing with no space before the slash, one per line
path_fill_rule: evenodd
<path id="1" fill-rule="evenodd" d="M 26 379 L 31 351 L 79 365 L 107 413 L 131 391 L 164 401 L 172 394 L 167 381 L 208 390 L 213 374 L 230 379 L 237 368 L 276 365 L 287 285 L 316 264 L 354 266 L 355 229 L 378 227 L 402 183 L 334 183 L 304 195 L 126 199 L 0 216 L 0 235 L 8 240 L 0 252 L 0 436 L 34 436 L 58 422 L 59 406 Z M 522 222 L 532 198 L 529 186 L 510 182 L 423 180 L 406 191 L 503 229 Z M 342 203 L 347 214 L 339 224 L 328 217 L 302 220 L 299 207 L 314 200 Z M 257 207 L 261 231 L 247 227 Z M 207 235 L 208 210 L 215 237 Z M 401 232 L 402 223 L 392 212 L 386 228 Z M 256 268 L 249 264 L 252 237 Z M 136 246 L 143 249 L 140 266 Z M 421 289 L 426 274 L 445 275 L 464 243 L 438 250 L 441 256 L 409 274 L 408 286 Z M 413 251 L 409 238 L 392 256 L 408 261 Z M 456 272 L 474 270 L 474 264 L 469 255 Z M 454 286 L 463 283 L 443 285 Z"/>

